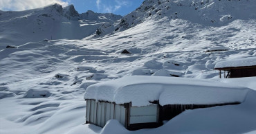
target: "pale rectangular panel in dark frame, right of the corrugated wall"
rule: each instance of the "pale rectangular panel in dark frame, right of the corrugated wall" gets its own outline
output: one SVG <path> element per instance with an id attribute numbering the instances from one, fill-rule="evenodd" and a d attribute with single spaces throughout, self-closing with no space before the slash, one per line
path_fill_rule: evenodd
<path id="1" fill-rule="evenodd" d="M 130 124 L 158 122 L 157 105 L 147 107 L 131 107 Z"/>

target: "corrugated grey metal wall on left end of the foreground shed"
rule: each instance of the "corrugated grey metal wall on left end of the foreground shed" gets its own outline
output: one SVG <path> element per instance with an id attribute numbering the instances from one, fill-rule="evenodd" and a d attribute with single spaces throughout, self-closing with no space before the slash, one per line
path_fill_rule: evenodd
<path id="1" fill-rule="evenodd" d="M 108 120 L 116 119 L 125 126 L 125 110 L 120 104 L 86 100 L 86 122 L 103 127 Z"/>

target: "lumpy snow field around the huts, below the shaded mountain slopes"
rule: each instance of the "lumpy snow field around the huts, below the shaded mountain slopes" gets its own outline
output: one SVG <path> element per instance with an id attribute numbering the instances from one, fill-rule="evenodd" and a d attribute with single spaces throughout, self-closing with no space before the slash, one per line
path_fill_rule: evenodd
<path id="1" fill-rule="evenodd" d="M 219 79 L 213 69 L 221 60 L 256 56 L 255 23 L 163 16 L 82 39 L 19 41 L 12 33 L 0 44 L 0 133 L 256 133 L 256 77 Z M 6 49 L 12 39 L 17 48 Z M 205 53 L 211 47 L 229 50 Z M 103 129 L 84 124 L 86 88 L 131 75 L 210 79 L 250 90 L 241 104 L 188 110 L 156 129 L 127 131 L 115 120 Z"/>

